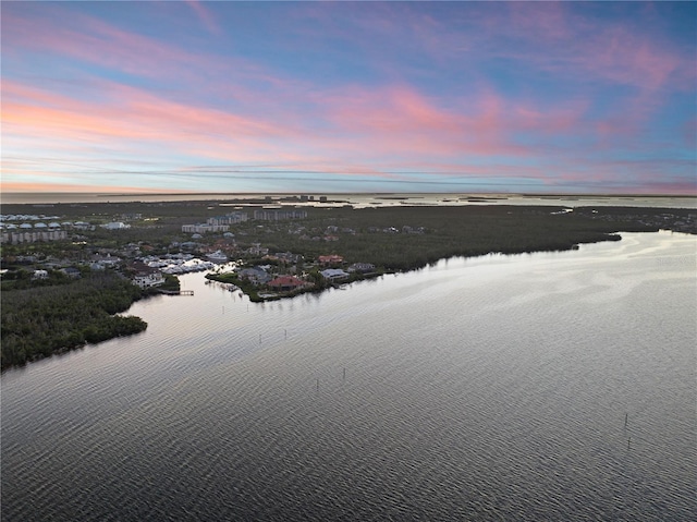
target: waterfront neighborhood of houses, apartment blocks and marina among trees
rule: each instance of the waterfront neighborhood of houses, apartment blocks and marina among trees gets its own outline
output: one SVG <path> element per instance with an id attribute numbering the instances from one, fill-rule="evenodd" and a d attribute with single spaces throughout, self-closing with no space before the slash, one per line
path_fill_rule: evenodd
<path id="1" fill-rule="evenodd" d="M 110 270 L 144 290 L 161 287 L 167 276 L 206 271 L 211 279 L 234 279 L 255 300 L 321 290 L 348 279 L 362 279 L 380 272 L 367 260 L 347 264 L 342 255 L 331 251 L 308 256 L 301 252 L 272 251 L 258 241 L 270 232 L 269 227 L 278 227 L 282 222 L 288 223 L 286 233 L 302 242 L 338 242 L 342 235 L 356 234 L 350 227 L 330 224 L 320 229 L 308 228 L 302 224 L 307 218 L 306 210 L 265 208 L 255 209 L 252 218 L 243 210 L 204 217 L 198 222 L 181 224 L 181 234 L 184 234 L 181 240 L 159 247 L 148 241 L 98 246 L 99 242 L 113 241 L 109 235 L 100 241 L 85 235 L 103 230 L 119 242 L 124 233 L 132 236 L 134 229 L 147 226 L 143 213 L 114 214 L 103 222 L 87 219 L 61 221 L 61 218 L 58 215 L 2 215 L 0 230 L 3 243 L 65 242 L 44 248 L 50 254 L 39 252 L 29 256 L 5 256 L 4 264 L 33 267 L 32 277 L 35 280 L 48 279 L 52 272 L 80 278 L 88 271 Z M 163 246 L 166 252 L 161 252 Z M 64 255 L 61 257 L 58 252 Z M 3 269 L 3 274 L 7 271 Z"/>

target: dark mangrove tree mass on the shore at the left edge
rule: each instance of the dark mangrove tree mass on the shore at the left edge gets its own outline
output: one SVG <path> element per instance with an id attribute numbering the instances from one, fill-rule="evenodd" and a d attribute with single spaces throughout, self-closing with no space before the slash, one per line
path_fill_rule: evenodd
<path id="1" fill-rule="evenodd" d="M 111 272 L 95 272 L 69 284 L 3 287 L 1 367 L 145 330 L 139 317 L 114 315 L 140 299 L 139 288 Z"/>

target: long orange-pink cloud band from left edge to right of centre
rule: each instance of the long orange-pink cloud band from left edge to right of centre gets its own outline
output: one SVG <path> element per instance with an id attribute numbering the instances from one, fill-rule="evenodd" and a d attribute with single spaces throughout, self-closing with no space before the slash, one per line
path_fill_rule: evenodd
<path id="1" fill-rule="evenodd" d="M 424 163 L 530 157 L 535 145 L 518 144 L 517 132 L 546 139 L 583 117 L 583 107 L 541 110 L 493 92 L 470 99 L 468 107 L 444 107 L 403 85 L 340 89 L 310 97 L 302 117 L 281 110 L 272 118 L 172 101 L 114 83 L 99 87 L 103 99 L 90 102 L 3 82 L 5 129 L 45 143 L 87 142 L 112 149 L 152 144 L 233 162 L 271 159 L 331 166 L 337 172 L 343 165 L 345 171 L 377 173 L 376 165 L 398 157 Z"/>

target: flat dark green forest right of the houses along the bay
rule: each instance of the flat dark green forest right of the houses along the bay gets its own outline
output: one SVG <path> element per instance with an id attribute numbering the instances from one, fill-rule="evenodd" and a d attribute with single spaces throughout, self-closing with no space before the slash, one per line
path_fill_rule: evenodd
<path id="1" fill-rule="evenodd" d="M 306 259 L 339 254 L 347 263 L 366 262 L 388 270 L 407 270 L 453 256 L 489 253 L 564 251 L 579 243 L 613 241 L 623 231 L 649 231 L 650 227 L 598 221 L 584 216 L 553 214 L 554 207 L 386 207 L 339 208 L 311 213 L 298 221 L 304 234 L 289 234 L 289 224 L 273 224 L 257 232 L 257 241 L 270 251 L 303 253 Z M 334 226 L 339 241 L 311 241 Z M 424 233 L 405 233 L 403 227 L 424 228 Z M 395 232 L 384 232 L 393 228 Z M 344 232 L 351 229 L 352 232 Z M 258 235 L 261 234 L 261 235 Z M 303 239 L 305 236 L 305 239 Z"/>

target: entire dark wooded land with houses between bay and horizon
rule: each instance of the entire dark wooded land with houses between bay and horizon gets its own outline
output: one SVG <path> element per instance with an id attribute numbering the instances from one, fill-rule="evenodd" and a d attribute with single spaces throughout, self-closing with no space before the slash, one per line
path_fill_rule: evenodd
<path id="1" fill-rule="evenodd" d="M 1 309 L 15 333 L 4 337 L 11 341 L 3 344 L 3 364 L 143 331 L 145 321 L 122 313 L 150 295 L 192 295 L 181 279 L 193 272 L 233 295 L 266 302 L 345 289 L 454 256 L 577 250 L 621 241 L 623 232 L 697 233 L 697 215 L 687 208 L 354 209 L 322 203 L 296 211 L 294 201 L 285 209 L 282 203 L 42 206 L 50 215 L 34 214 L 38 207 L 28 204 L 4 206 Z M 255 217 L 260 208 L 265 213 Z M 39 323 L 50 323 L 27 344 L 16 332 L 35 328 L 35 309 L 42 311 Z"/>

